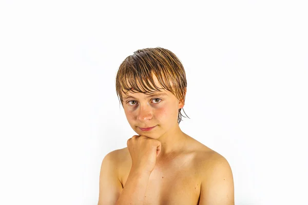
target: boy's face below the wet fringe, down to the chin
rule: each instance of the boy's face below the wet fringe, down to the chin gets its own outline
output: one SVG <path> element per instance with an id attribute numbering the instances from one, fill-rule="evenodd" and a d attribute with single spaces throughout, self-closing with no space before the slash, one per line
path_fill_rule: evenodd
<path id="1" fill-rule="evenodd" d="M 155 76 L 153 80 L 159 85 Z M 137 134 L 150 138 L 157 139 L 177 126 L 178 112 L 183 106 L 184 104 L 167 90 L 155 92 L 153 95 L 123 93 L 123 108 L 130 127 Z M 154 128 L 148 131 L 140 129 L 150 127 Z"/>

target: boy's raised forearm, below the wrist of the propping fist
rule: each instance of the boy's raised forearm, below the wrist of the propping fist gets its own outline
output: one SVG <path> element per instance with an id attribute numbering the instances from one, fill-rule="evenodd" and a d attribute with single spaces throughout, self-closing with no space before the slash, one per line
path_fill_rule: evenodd
<path id="1" fill-rule="evenodd" d="M 131 169 L 116 205 L 142 205 L 150 173 Z"/>

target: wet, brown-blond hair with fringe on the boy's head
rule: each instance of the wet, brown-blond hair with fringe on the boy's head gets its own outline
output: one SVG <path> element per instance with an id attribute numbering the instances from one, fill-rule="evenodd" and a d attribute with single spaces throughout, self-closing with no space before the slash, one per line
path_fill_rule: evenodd
<path id="1" fill-rule="evenodd" d="M 157 77 L 163 88 L 155 85 L 152 75 Z M 155 88 L 149 84 L 149 81 Z M 172 85 L 170 85 L 170 81 Z M 143 90 L 138 87 L 137 82 Z M 115 78 L 115 88 L 122 107 L 123 96 L 121 91 L 126 93 L 130 90 L 134 93 L 137 91 L 151 94 L 151 90 L 160 91 L 161 89 L 166 89 L 179 100 L 183 100 L 184 103 L 186 87 L 186 74 L 181 61 L 174 53 L 161 47 L 139 49 L 133 52 L 122 62 Z M 180 124 L 182 116 L 181 109 L 179 109 L 178 124 Z"/>

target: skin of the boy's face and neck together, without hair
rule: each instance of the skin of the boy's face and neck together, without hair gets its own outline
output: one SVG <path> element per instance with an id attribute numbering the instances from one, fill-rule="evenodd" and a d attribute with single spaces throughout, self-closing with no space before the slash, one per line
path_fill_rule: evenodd
<path id="1" fill-rule="evenodd" d="M 156 76 L 153 76 L 159 85 Z M 179 152 L 185 146 L 188 136 L 178 124 L 178 111 L 184 103 L 170 91 L 156 92 L 157 96 L 149 97 L 144 93 L 123 93 L 123 108 L 130 127 L 138 134 L 157 139 L 162 144 L 160 158 Z M 158 96 L 163 94 L 163 96 Z M 140 128 L 153 127 L 150 131 Z"/>

